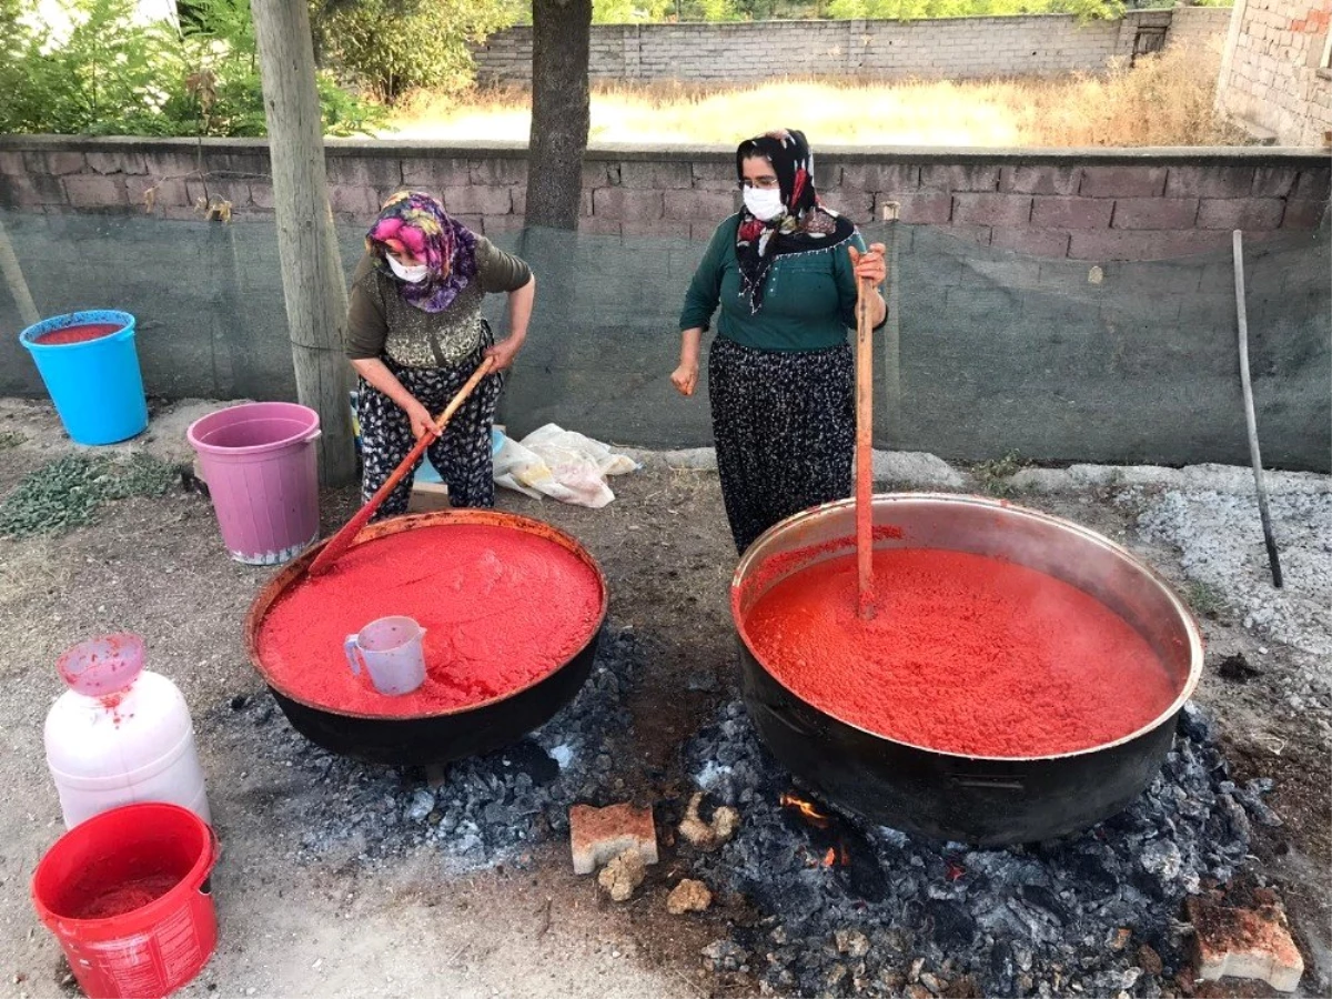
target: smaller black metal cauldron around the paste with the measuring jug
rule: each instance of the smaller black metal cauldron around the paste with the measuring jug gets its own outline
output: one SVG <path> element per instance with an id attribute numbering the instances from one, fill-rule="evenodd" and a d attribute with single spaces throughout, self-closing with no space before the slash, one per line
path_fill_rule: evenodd
<path id="1" fill-rule="evenodd" d="M 541 521 L 496 510 L 442 510 L 372 523 L 358 545 L 416 527 L 486 525 L 535 534 L 571 551 L 597 577 L 601 613 L 586 642 L 563 665 L 531 685 L 478 705 L 414 718 L 352 714 L 310 705 L 284 690 L 260 657 L 260 626 L 268 609 L 305 575 L 326 539 L 290 562 L 260 591 L 245 619 L 245 647 L 292 727 L 332 753 L 400 766 L 429 766 L 480 755 L 517 742 L 569 703 L 587 679 L 606 619 L 606 577 L 577 541 Z M 329 669 L 345 670 L 341 649 L 329 651 Z"/>

